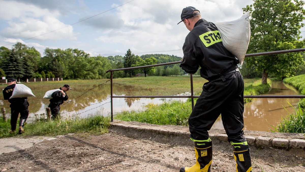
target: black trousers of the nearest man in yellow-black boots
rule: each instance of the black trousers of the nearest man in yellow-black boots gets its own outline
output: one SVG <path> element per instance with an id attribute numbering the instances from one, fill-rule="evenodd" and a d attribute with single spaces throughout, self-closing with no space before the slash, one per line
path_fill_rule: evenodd
<path id="1" fill-rule="evenodd" d="M 188 119 L 190 137 L 207 140 L 211 129 L 221 114 L 228 141 L 244 142 L 244 82 L 239 71 L 222 75 L 206 82 Z"/>

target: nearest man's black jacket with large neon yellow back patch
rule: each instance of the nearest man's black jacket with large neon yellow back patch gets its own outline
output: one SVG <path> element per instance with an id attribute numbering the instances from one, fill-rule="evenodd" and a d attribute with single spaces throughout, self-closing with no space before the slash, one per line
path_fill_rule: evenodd
<path id="1" fill-rule="evenodd" d="M 184 57 L 180 67 L 189 74 L 200 68 L 204 79 L 213 80 L 237 68 L 239 60 L 223 45 L 221 35 L 212 22 L 198 20 L 185 38 Z"/>

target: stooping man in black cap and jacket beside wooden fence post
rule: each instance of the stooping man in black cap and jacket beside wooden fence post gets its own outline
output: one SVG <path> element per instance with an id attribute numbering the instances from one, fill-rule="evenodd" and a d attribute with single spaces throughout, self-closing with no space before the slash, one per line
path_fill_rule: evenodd
<path id="1" fill-rule="evenodd" d="M 50 104 L 48 106 L 51 109 L 53 119 L 60 117 L 60 105 L 63 104 L 63 101 L 66 101 L 69 98 L 67 91 L 72 90 L 68 84 L 65 84 L 59 89 L 60 91 L 52 93 L 52 99 L 50 99 Z"/>

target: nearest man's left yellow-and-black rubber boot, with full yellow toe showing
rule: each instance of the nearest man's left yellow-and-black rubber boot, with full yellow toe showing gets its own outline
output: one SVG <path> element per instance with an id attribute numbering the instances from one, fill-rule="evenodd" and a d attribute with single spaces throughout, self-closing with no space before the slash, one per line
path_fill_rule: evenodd
<path id="1" fill-rule="evenodd" d="M 182 167 L 180 172 L 210 172 L 212 164 L 212 141 L 195 141 L 196 164 L 192 167 Z"/>

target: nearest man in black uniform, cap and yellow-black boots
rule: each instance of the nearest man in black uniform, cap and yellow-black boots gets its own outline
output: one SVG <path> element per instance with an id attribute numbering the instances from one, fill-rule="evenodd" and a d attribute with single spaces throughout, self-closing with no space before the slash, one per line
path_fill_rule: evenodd
<path id="1" fill-rule="evenodd" d="M 180 22 L 190 31 L 182 48 L 184 57 L 180 67 L 189 74 L 200 68 L 201 77 L 208 80 L 188 119 L 196 164 L 182 167 L 180 172 L 210 171 L 212 140 L 208 130 L 220 114 L 228 141 L 233 146 L 236 170 L 250 172 L 249 145 L 242 130 L 244 82 L 237 67 L 239 60 L 225 49 L 215 24 L 202 19 L 196 8 L 184 8 Z"/>

